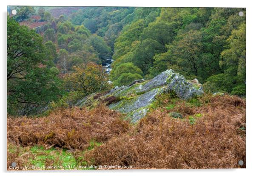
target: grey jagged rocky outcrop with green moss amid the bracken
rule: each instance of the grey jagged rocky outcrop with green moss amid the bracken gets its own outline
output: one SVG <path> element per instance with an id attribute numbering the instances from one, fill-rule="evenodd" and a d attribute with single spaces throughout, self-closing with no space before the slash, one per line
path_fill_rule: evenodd
<path id="1" fill-rule="evenodd" d="M 87 96 L 78 101 L 77 105 L 91 106 L 95 102 L 101 102 L 100 100 L 104 102 L 107 97 L 114 96 L 117 100 L 108 107 L 125 113 L 128 118 L 136 122 L 146 115 L 156 96 L 162 93 L 172 93 L 180 99 L 190 99 L 201 95 L 203 90 L 197 80 L 186 80 L 181 74 L 169 69 L 152 80 L 135 80 L 128 86 L 117 86 L 97 100 L 92 98 L 93 95 Z"/>

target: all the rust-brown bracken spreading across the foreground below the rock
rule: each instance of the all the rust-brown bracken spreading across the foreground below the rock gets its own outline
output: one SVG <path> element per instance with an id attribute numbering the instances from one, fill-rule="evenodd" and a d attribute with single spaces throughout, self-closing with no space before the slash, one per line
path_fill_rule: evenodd
<path id="1" fill-rule="evenodd" d="M 82 154 L 94 165 L 133 165 L 134 169 L 245 168 L 245 100 L 208 96 L 199 106 L 162 98 L 137 124 L 99 106 L 57 110 L 42 118 L 8 118 L 7 140 L 20 146 L 84 150 L 94 139 L 103 144 Z M 173 118 L 178 112 L 184 118 Z M 74 156 L 77 152 L 74 152 Z M 244 165 L 238 165 L 243 160 Z M 81 161 L 81 163 L 82 163 Z"/>

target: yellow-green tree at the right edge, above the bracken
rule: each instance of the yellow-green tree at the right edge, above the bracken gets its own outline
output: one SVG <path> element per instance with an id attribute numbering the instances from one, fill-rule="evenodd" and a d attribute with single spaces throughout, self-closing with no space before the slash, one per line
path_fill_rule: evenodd
<path id="1" fill-rule="evenodd" d="M 227 39 L 228 48 L 222 51 L 223 61 L 220 66 L 225 70 L 224 77 L 230 79 L 225 82 L 227 86 L 219 86 L 222 90 L 232 94 L 245 95 L 245 23 L 242 23 L 237 30 L 233 30 Z M 211 79 L 211 80 L 209 80 Z M 220 85 L 221 80 L 210 77 L 208 81 L 214 81 Z"/>

